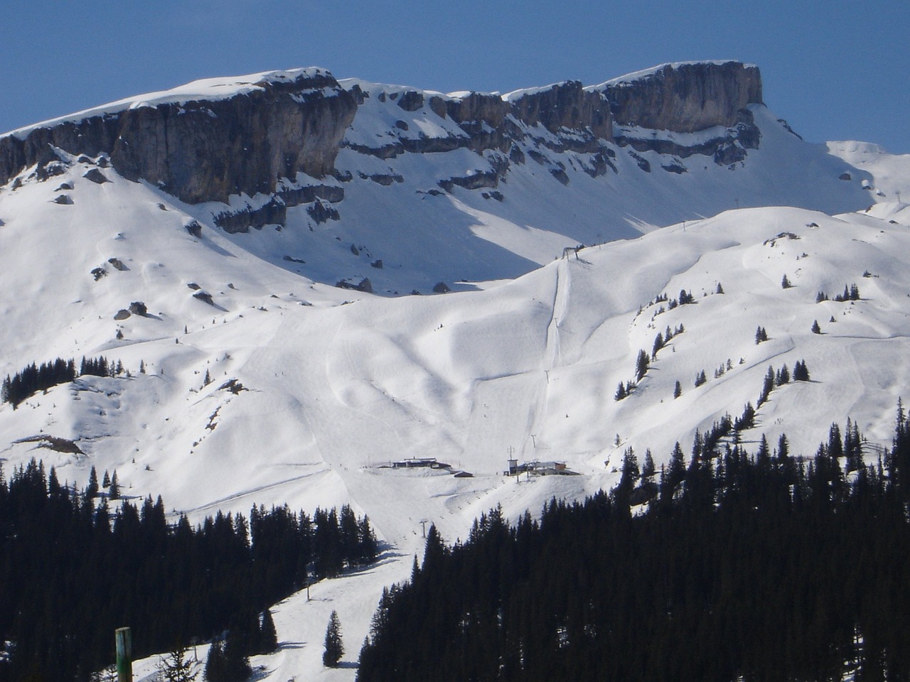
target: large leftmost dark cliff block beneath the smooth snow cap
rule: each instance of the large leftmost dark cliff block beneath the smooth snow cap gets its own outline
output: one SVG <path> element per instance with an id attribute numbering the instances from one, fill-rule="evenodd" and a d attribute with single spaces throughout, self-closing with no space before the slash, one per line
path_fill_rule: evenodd
<path id="1" fill-rule="evenodd" d="M 320 72 L 227 98 L 90 115 L 0 138 L 0 184 L 56 161 L 56 147 L 106 154 L 120 175 L 190 204 L 270 193 L 282 177 L 330 174 L 356 110 L 356 94 Z"/>

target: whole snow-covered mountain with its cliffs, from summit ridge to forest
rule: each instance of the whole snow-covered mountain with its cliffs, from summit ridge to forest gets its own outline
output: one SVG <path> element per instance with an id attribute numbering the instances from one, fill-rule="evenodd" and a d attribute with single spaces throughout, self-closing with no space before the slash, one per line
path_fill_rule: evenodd
<path id="1" fill-rule="evenodd" d="M 805 143 L 757 69 L 727 62 L 509 95 L 274 72 L 15 131 L 0 376 L 99 355 L 130 376 L 0 406 L 0 458 L 79 485 L 116 469 L 194 519 L 368 514 L 384 560 L 278 605 L 303 646 L 260 661 L 350 679 L 320 665 L 329 612 L 356 652 L 424 522 L 451 540 L 490 506 L 609 487 L 629 446 L 659 466 L 754 406 L 769 366 L 804 360 L 812 380 L 775 388 L 743 440 L 786 432 L 809 454 L 850 416 L 869 456 L 887 445 L 910 378 L 907 158 Z M 437 283 L 453 291 L 404 296 Z M 693 304 L 671 308 L 682 290 Z M 581 476 L 519 481 L 510 456 Z M 381 467 L 422 457 L 473 476 Z"/>

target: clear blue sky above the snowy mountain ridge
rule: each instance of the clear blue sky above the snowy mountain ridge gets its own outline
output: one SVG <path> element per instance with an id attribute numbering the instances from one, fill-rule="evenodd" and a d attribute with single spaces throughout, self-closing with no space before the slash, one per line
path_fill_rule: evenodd
<path id="1" fill-rule="evenodd" d="M 450 92 L 740 59 L 807 140 L 910 153 L 905 0 L 0 0 L 0 131 L 214 75 L 323 66 Z"/>

